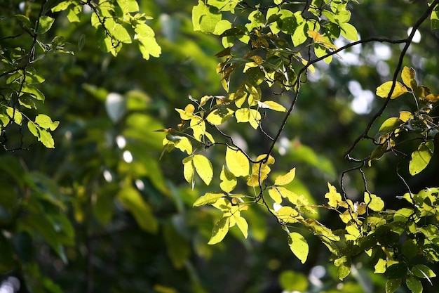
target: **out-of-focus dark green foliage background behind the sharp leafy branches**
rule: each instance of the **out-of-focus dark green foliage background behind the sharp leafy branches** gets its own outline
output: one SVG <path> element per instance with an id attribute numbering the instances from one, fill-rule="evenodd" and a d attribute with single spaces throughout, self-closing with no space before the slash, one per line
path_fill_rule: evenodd
<path id="1" fill-rule="evenodd" d="M 311 235 L 305 234 L 312 253 L 299 263 L 264 209 L 247 212 L 248 240 L 232 228 L 223 242 L 207 245 L 219 214 L 191 207 L 204 185 L 191 190 L 182 175 L 184 156 L 161 156 L 165 134 L 154 130 L 178 124 L 174 108 L 184 108 L 189 95 L 224 95 L 215 57 L 222 45 L 217 37 L 194 32 L 196 1 L 139 4 L 154 18 L 148 24 L 162 48 L 159 58 L 144 60 L 130 45 L 117 57 L 102 53 L 86 10 L 74 24 L 58 15 L 55 29 L 45 36 L 64 36 L 66 49 L 75 53 L 39 60 L 46 78 L 41 84 L 46 103 L 39 110 L 60 121 L 53 132 L 55 149 L 15 131 L 5 145 L 27 149 L 0 153 L 0 292 L 13 292 L 1 290 L 17 281 L 18 292 L 384 292 L 384 278 L 373 274 L 367 259 L 358 259 L 340 283 L 327 250 Z M 20 1 L 0 4 L 1 47 L 18 41 L 1 37 L 15 34 L 6 20 L 19 9 Z M 404 39 L 425 10 L 426 1 L 363 0 L 351 7 L 351 23 L 361 39 Z M 426 22 L 404 62 L 436 92 L 438 43 L 439 32 Z M 381 107 L 374 89 L 391 79 L 400 50 L 398 44 L 363 44 L 335 56 L 331 65 L 319 63 L 309 74 L 275 153 L 276 168 L 299 170 L 290 186 L 297 193 L 320 204 L 326 182 L 337 184 L 353 167 L 343 154 Z M 276 89 L 264 95 L 276 95 Z M 288 98 L 284 94 L 285 104 Z M 379 121 L 410 107 L 410 101 L 395 101 Z M 264 129 L 273 133 L 279 122 L 269 116 Z M 255 154 L 266 151 L 257 131 L 233 127 L 227 131 L 242 145 Z M 362 143 L 354 154 L 365 157 L 373 149 Z M 365 170 L 368 188 L 395 209 L 396 196 L 407 190 L 396 172 L 397 159 L 387 155 Z M 439 183 L 437 155 L 413 178 L 404 171 L 408 159 L 400 164 L 415 193 Z M 349 173 L 345 180 L 346 193 L 356 200 L 361 174 Z M 334 218 L 325 212 L 319 216 L 328 225 Z M 435 292 L 425 285 L 424 292 Z"/>

